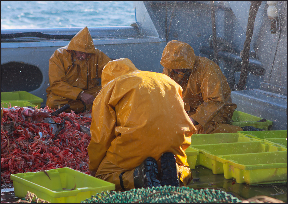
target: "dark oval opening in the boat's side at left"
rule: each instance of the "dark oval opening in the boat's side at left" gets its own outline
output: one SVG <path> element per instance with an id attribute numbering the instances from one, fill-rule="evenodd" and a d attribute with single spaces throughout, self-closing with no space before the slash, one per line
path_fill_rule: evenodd
<path id="1" fill-rule="evenodd" d="M 1 64 L 1 92 L 27 91 L 39 88 L 43 75 L 37 66 L 21 62 Z"/>

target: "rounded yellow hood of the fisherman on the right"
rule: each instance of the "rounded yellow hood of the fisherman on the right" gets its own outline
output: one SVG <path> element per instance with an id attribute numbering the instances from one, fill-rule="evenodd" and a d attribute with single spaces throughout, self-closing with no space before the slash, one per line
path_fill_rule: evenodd
<path id="1" fill-rule="evenodd" d="M 173 40 L 164 48 L 160 64 L 167 69 L 193 69 L 195 61 L 194 50 L 190 45 Z"/>

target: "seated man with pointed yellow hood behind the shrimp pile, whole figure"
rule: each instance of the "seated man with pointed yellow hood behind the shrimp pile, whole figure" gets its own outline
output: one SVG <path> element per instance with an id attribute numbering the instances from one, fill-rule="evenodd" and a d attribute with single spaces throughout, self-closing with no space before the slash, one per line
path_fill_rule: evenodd
<path id="1" fill-rule="evenodd" d="M 58 109 L 69 104 L 76 113 L 91 109 L 101 89 L 98 80 L 102 69 L 110 60 L 95 49 L 88 28 L 80 30 L 50 57 L 46 105 Z"/>

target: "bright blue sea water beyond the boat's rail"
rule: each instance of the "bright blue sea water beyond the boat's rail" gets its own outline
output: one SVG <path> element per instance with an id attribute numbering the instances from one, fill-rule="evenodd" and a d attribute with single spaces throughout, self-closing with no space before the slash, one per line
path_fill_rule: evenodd
<path id="1" fill-rule="evenodd" d="M 1 29 L 129 26 L 133 1 L 1 1 Z"/>

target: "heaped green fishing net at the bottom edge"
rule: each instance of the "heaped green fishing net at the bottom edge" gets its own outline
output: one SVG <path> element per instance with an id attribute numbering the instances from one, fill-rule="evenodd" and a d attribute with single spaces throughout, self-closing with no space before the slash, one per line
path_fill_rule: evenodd
<path id="1" fill-rule="evenodd" d="M 81 203 L 242 203 L 242 201 L 216 189 L 198 190 L 184 186 L 161 186 L 124 192 L 103 191 Z"/>

